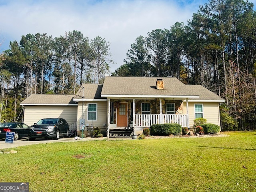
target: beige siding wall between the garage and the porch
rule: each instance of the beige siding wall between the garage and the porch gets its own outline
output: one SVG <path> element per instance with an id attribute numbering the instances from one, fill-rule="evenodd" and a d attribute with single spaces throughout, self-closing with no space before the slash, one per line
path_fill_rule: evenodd
<path id="1" fill-rule="evenodd" d="M 87 112 L 88 112 L 88 103 L 97 103 L 97 120 L 87 120 Z M 94 127 L 100 128 L 102 131 L 106 131 L 107 128 L 107 105 L 108 102 L 106 101 L 97 101 L 97 102 L 78 102 L 77 107 L 77 123 L 78 123 L 78 130 L 80 128 L 80 119 L 85 119 L 85 124 L 89 124 L 89 126 L 93 125 Z M 83 110 L 82 110 L 83 109 Z M 103 126 L 103 124 L 106 124 L 106 126 Z"/>

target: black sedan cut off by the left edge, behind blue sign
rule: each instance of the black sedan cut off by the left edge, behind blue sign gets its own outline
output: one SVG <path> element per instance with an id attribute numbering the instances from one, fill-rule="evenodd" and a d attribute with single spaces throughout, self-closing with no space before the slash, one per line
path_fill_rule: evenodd
<path id="1" fill-rule="evenodd" d="M 5 138 L 6 132 L 15 132 L 14 140 L 22 137 L 28 137 L 29 126 L 24 123 L 1 123 L 0 124 L 0 138 Z"/>

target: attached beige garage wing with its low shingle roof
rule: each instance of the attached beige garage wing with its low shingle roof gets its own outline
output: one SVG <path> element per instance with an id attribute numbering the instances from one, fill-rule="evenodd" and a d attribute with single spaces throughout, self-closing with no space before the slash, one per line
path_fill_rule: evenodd
<path id="1" fill-rule="evenodd" d="M 75 95 L 32 94 L 20 103 L 24 107 L 24 123 L 33 125 L 42 118 L 64 118 L 70 126 L 77 121 Z"/>

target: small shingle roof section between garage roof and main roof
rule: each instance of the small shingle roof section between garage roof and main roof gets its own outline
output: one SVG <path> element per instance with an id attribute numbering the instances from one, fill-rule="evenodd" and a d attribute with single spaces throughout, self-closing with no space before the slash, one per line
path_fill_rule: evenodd
<path id="1" fill-rule="evenodd" d="M 76 93 L 76 96 L 74 99 L 104 99 L 101 97 L 101 91 L 102 91 L 103 84 L 82 84 L 81 87 L 84 87 L 84 98 L 83 96 L 83 90 L 78 91 Z"/>

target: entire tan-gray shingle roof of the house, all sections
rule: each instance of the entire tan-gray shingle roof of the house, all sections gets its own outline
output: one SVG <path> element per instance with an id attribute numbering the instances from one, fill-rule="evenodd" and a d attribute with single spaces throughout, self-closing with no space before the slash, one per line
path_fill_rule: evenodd
<path id="1" fill-rule="evenodd" d="M 76 104 L 74 99 L 105 99 L 101 95 L 133 95 L 133 96 L 198 96 L 191 100 L 223 100 L 218 95 L 201 85 L 185 85 L 174 77 L 162 77 L 164 90 L 156 89 L 156 77 L 115 77 L 105 78 L 103 84 L 82 84 L 83 91 L 76 95 L 67 94 L 32 94 L 22 101 L 21 105 L 40 104 Z"/>

